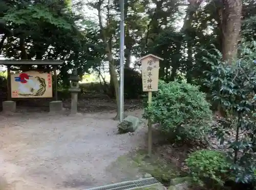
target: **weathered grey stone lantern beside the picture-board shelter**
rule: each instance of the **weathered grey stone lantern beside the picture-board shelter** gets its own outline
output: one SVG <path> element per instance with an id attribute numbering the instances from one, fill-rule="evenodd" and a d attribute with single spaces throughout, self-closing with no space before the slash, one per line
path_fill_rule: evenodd
<path id="1" fill-rule="evenodd" d="M 79 88 L 79 80 L 80 77 L 77 75 L 77 69 L 74 69 L 70 76 L 70 89 L 71 92 L 71 114 L 77 113 L 77 101 L 78 101 L 78 92 L 80 92 Z"/>

